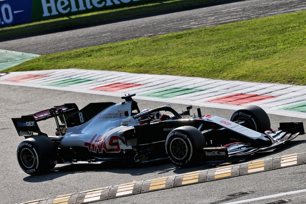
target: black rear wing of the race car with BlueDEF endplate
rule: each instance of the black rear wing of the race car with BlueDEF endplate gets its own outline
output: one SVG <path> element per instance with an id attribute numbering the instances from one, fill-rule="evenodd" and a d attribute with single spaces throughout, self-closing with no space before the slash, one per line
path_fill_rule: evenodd
<path id="1" fill-rule="evenodd" d="M 64 104 L 61 106 L 54 106 L 54 110 L 55 115 L 59 117 L 62 123 L 65 123 L 64 118 L 70 117 L 76 113 L 79 108 L 76 106 L 76 104 Z M 50 113 L 50 109 L 39 111 L 31 115 L 24 115 L 21 116 L 21 118 L 12 118 L 12 121 L 19 136 L 30 138 L 35 135 L 47 136 L 47 134 L 40 131 L 37 122 L 49 118 L 54 118 L 54 114 Z"/>

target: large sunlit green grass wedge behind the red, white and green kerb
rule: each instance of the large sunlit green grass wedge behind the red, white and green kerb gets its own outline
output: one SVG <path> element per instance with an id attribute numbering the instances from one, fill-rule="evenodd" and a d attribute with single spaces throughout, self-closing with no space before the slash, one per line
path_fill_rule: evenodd
<path id="1" fill-rule="evenodd" d="M 4 71 L 112 70 L 306 85 L 306 11 L 40 56 Z"/>

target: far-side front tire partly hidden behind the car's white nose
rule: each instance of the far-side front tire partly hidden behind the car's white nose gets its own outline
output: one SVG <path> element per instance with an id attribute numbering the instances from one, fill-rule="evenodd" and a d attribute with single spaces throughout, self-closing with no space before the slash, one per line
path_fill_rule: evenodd
<path id="1" fill-rule="evenodd" d="M 235 111 L 230 119 L 233 122 L 243 121 L 241 124 L 257 132 L 263 133 L 270 130 L 271 124 L 267 113 L 260 107 L 248 105 Z"/>

